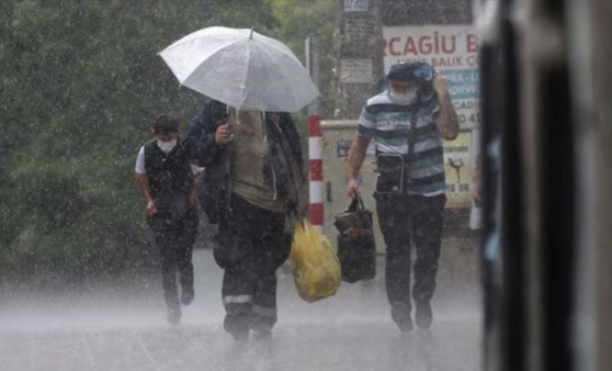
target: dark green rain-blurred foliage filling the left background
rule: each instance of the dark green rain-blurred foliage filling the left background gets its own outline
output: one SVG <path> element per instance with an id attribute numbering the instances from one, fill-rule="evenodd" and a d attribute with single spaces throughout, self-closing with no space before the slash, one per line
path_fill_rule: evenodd
<path id="1" fill-rule="evenodd" d="M 185 123 L 203 99 L 179 88 L 157 53 L 211 25 L 303 43 L 284 30 L 280 3 L 0 3 L 0 284 L 150 269 L 136 154 L 157 115 Z"/>

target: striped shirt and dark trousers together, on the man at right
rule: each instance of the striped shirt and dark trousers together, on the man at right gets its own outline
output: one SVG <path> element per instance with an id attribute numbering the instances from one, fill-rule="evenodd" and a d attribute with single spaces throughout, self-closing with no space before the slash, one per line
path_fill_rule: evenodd
<path id="1" fill-rule="evenodd" d="M 389 304 L 429 303 L 435 290 L 446 190 L 440 108 L 434 93 L 406 104 L 389 92 L 371 98 L 358 134 L 376 140 L 376 212 L 386 245 Z M 411 261 L 411 244 L 416 261 Z M 415 284 L 410 288 L 413 268 Z"/>

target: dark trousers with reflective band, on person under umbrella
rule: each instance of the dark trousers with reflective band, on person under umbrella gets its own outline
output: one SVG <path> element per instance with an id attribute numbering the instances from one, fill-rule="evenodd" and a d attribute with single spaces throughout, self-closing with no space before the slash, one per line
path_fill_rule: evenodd
<path id="1" fill-rule="evenodd" d="M 215 248 L 215 259 L 225 270 L 222 296 L 226 328 L 271 328 L 276 323 L 276 269 L 291 248 L 284 224 L 284 213 L 233 195 L 230 210 L 222 216 Z"/>

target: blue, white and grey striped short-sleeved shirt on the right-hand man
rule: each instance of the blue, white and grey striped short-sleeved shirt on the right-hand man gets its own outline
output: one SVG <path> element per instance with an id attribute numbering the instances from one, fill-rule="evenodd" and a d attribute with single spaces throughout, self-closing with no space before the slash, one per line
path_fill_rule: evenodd
<path id="1" fill-rule="evenodd" d="M 416 127 L 411 134 L 413 114 Z M 413 142 L 411 158 L 406 161 L 409 193 L 432 196 L 446 191 L 444 148 L 437 125 L 439 115 L 435 94 L 415 98 L 401 105 L 392 101 L 388 91 L 370 98 L 361 112 L 358 133 L 375 138 L 377 154 L 399 154 L 407 158 L 409 143 Z"/>

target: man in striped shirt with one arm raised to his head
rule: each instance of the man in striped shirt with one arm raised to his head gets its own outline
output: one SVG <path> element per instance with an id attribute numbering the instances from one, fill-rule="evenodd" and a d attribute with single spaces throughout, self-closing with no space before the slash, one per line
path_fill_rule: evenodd
<path id="1" fill-rule="evenodd" d="M 412 329 L 410 244 L 415 243 L 415 321 L 432 322 L 431 299 L 442 238 L 445 195 L 442 139 L 453 140 L 458 122 L 446 80 L 424 63 L 397 64 L 386 75 L 390 90 L 367 100 L 345 164 L 347 192 L 360 196 L 359 172 L 375 138 L 376 213 L 386 244 L 385 283 L 392 318 Z"/>

